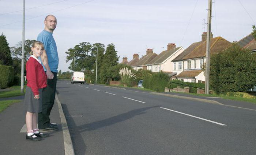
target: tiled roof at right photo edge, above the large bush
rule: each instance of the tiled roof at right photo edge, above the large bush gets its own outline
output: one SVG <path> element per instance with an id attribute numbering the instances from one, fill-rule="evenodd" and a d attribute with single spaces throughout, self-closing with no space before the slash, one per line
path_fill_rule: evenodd
<path id="1" fill-rule="evenodd" d="M 237 42 L 241 48 L 250 49 L 252 52 L 256 52 L 256 40 L 250 33 L 248 36 L 242 38 Z"/>

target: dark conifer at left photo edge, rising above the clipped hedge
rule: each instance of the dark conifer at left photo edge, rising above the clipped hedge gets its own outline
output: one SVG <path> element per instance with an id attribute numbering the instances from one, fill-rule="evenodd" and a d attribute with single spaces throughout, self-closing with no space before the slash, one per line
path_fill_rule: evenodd
<path id="1" fill-rule="evenodd" d="M 5 35 L 0 35 L 0 65 L 12 66 L 12 57 Z"/>

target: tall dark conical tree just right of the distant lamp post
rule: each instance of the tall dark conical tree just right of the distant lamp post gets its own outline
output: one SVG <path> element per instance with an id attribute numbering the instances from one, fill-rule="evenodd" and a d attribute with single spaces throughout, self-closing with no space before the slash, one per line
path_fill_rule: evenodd
<path id="1" fill-rule="evenodd" d="M 118 59 L 119 57 L 117 57 L 117 51 L 114 44 L 108 44 L 106 53 L 103 57 L 101 71 L 99 72 L 99 78 L 102 84 L 108 84 L 112 79 L 111 67 L 118 64 Z"/>

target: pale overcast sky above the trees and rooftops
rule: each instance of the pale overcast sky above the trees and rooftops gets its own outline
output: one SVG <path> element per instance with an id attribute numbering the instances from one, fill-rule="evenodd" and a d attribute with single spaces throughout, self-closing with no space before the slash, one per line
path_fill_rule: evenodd
<path id="1" fill-rule="evenodd" d="M 255 0 L 213 1 L 214 37 L 232 42 L 252 32 L 252 25 L 256 25 Z M 26 9 L 38 6 L 42 7 L 25 11 L 25 39 L 37 38 L 44 29 L 46 15 L 56 16 L 58 23 L 53 36 L 59 69 L 68 71 L 70 62 L 65 62 L 65 51 L 81 42 L 105 46 L 114 43 L 119 62 L 123 57 L 132 60 L 133 53 L 146 55 L 146 47 L 157 54 L 167 49 L 168 43 L 187 48 L 201 40 L 203 19 L 207 23 L 208 0 L 25 0 Z M 0 14 L 22 10 L 22 0 L 0 0 L 0 8 Z M 22 40 L 21 21 L 22 11 L 0 15 L 0 33 L 7 37 L 10 47 Z"/>

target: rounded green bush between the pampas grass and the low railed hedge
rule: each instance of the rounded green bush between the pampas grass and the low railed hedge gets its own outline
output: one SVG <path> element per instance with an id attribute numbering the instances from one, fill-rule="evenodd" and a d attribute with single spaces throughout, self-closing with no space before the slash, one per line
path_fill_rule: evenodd
<path id="1" fill-rule="evenodd" d="M 169 76 L 163 72 L 146 75 L 143 79 L 143 87 L 157 92 L 164 92 L 168 86 Z"/>

